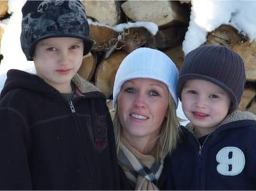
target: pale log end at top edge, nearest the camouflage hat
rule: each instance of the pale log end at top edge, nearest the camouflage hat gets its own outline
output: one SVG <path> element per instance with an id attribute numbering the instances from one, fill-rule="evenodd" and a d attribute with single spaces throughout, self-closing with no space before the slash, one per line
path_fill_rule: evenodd
<path id="1" fill-rule="evenodd" d="M 114 26 L 121 22 L 121 5 L 119 1 L 82 1 L 88 17 L 102 24 Z"/>

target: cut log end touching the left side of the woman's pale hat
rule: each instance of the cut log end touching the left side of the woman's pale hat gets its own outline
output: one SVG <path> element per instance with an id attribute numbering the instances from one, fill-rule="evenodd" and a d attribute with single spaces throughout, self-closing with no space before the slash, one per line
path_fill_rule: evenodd
<path id="1" fill-rule="evenodd" d="M 109 98 L 112 94 L 115 73 L 126 56 L 125 51 L 115 52 L 109 58 L 103 59 L 96 69 L 95 84 L 105 94 L 106 98 Z"/>

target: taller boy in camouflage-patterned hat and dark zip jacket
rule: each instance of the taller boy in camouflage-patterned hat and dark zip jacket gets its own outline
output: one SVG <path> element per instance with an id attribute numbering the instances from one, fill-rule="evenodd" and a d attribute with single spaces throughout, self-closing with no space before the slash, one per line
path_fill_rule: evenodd
<path id="1" fill-rule="evenodd" d="M 1 92 L 1 190 L 120 190 L 106 99 L 76 73 L 93 45 L 83 4 L 27 1 L 22 12 L 36 75 L 12 69 Z"/>

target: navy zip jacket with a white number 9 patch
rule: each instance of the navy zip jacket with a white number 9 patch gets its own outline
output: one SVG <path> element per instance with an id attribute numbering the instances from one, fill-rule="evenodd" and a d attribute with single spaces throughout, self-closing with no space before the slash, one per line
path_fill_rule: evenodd
<path id="1" fill-rule="evenodd" d="M 202 146 L 187 128 L 182 132 L 171 154 L 168 190 L 256 190 L 255 115 L 234 111 Z"/>

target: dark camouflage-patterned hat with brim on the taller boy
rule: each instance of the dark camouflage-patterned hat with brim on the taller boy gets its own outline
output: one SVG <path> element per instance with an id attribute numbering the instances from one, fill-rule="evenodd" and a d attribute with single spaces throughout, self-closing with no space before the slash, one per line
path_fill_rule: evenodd
<path id="1" fill-rule="evenodd" d="M 84 55 L 94 41 L 80 1 L 27 1 L 22 9 L 20 43 L 27 60 L 33 60 L 35 44 L 51 37 L 75 37 L 84 41 Z"/>

